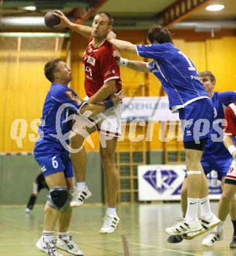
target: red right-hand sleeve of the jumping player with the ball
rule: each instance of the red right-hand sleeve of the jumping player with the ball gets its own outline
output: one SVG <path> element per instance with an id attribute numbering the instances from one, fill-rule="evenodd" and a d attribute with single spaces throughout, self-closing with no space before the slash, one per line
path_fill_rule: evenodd
<path id="1" fill-rule="evenodd" d="M 115 51 L 115 47 L 111 47 L 106 50 L 107 51 L 100 56 L 99 60 L 104 83 L 111 79 L 120 78 L 119 66 L 117 66 L 116 60 L 112 55 L 113 51 Z"/>

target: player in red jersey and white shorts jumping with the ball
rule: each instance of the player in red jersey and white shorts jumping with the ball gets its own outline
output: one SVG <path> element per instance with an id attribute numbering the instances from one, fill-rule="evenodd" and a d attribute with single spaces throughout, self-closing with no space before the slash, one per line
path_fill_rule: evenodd
<path id="1" fill-rule="evenodd" d="M 63 12 L 54 11 L 61 22 L 56 27 L 68 27 L 88 38 L 88 47 L 83 56 L 85 70 L 85 91 L 88 103 L 101 102 L 110 98 L 115 91 L 121 90 L 119 66 L 113 57 L 115 47 L 106 41 L 106 35 L 112 30 L 113 18 L 107 12 L 99 12 L 94 16 L 92 28 L 73 24 L 64 16 Z M 100 132 L 100 156 L 105 173 L 105 184 L 108 198 L 108 211 L 100 234 L 111 233 L 119 223 L 115 211 L 117 191 L 119 186 L 119 173 L 115 167 L 115 148 L 117 138 L 121 137 L 121 105 L 111 108 L 96 117 L 100 121 L 96 126 L 87 127 L 87 132 Z M 81 120 L 82 121 L 82 120 Z M 85 141 L 82 135 L 76 135 L 71 140 L 72 148 L 81 148 Z M 85 183 L 87 155 L 83 148 L 77 154 L 71 154 L 75 175 L 77 178 L 77 192 L 73 194 L 71 207 L 82 205 L 84 200 L 91 196 Z"/>

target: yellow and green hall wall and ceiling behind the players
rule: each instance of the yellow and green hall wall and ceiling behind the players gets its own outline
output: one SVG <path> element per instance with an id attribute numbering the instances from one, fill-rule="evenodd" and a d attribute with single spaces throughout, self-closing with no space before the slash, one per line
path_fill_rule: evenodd
<path id="1" fill-rule="evenodd" d="M 84 71 L 82 56 L 87 47 L 87 39 L 78 33 L 67 30 L 49 31 L 43 24 L 34 21 L 10 22 L 10 18 L 44 16 L 45 12 L 60 9 L 71 16 L 78 16 L 78 10 L 94 8 L 108 11 L 115 18 L 115 33 L 118 39 L 132 43 L 146 43 L 149 26 L 160 20 L 160 14 L 176 2 L 175 0 L 108 0 L 108 1 L 0 1 L 0 204 L 26 204 L 31 193 L 33 179 L 39 167 L 31 152 L 37 137 L 37 123 L 50 83 L 43 74 L 44 64 L 58 56 L 71 66 L 73 81 L 71 88 L 82 98 Z M 35 11 L 22 9 L 30 2 Z M 56 2 L 56 3 L 55 3 Z M 235 90 L 236 84 L 236 1 L 186 1 L 186 16 L 168 28 L 173 33 L 174 44 L 197 66 L 199 72 L 210 70 L 216 75 L 216 91 Z M 222 3 L 224 11 L 210 13 L 205 11 L 206 3 Z M 81 6 L 79 6 L 79 4 Z M 87 6 L 88 5 L 88 6 Z M 187 6 L 193 11 L 187 11 Z M 192 6 L 191 6 L 192 5 Z M 197 5 L 201 5 L 200 8 Z M 89 8 L 88 8 L 89 7 Z M 98 8 L 97 8 L 98 7 Z M 77 10 L 76 10 L 77 9 Z M 93 13 L 90 13 L 91 17 Z M 181 20 L 182 19 L 182 20 Z M 20 23 L 22 22 L 22 24 Z M 88 17 L 85 24 L 92 24 Z M 14 33 L 13 33 L 14 32 Z M 54 35 L 50 33 L 63 33 Z M 35 35 L 35 33 L 41 33 Z M 121 53 L 123 57 L 142 60 L 135 54 Z M 125 96 L 163 96 L 159 81 L 152 74 L 134 72 L 121 68 L 121 79 Z M 25 119 L 13 132 L 13 137 L 24 137 L 21 147 L 11 139 L 10 131 L 15 119 Z M 17 123 L 15 123 L 17 124 Z M 153 140 L 130 142 L 125 140 L 117 148 L 117 167 L 121 172 L 119 202 L 138 200 L 138 164 L 183 162 L 182 146 L 177 142 L 164 144 L 158 138 L 159 123 L 153 123 Z M 128 123 L 127 123 L 128 127 Z M 128 129 L 127 129 L 128 131 Z M 137 128 L 138 134 L 145 134 L 146 127 Z M 93 196 L 88 202 L 105 202 L 103 174 L 99 156 L 98 133 L 92 135 L 95 148 L 86 145 L 88 152 L 87 183 Z M 38 203 L 45 202 L 47 191 L 39 195 Z"/>

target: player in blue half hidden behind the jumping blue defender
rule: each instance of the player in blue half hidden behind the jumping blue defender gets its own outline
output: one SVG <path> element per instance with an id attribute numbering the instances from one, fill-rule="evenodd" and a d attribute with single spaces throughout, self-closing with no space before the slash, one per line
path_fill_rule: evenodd
<path id="1" fill-rule="evenodd" d="M 215 92 L 214 87 L 216 85 L 216 77 L 214 77 L 214 74 L 212 74 L 212 72 L 201 72 L 199 74 L 199 77 L 206 89 L 206 92 L 212 99 L 212 103 L 214 106 L 214 123 L 212 135 L 205 144 L 205 151 L 203 152 L 203 156 L 201 158 L 201 164 L 203 166 L 205 175 L 213 170 L 216 171 L 218 174 L 218 179 L 222 181 L 222 186 L 224 186 L 225 177 L 227 175 L 227 172 L 229 171 L 231 162 L 233 161 L 231 154 L 223 144 L 224 111 L 226 109 L 226 106 L 236 101 L 236 93 L 234 91 L 227 91 L 224 93 Z M 186 179 L 184 180 L 184 183 L 182 185 L 181 198 L 182 211 L 183 215 L 185 216 L 187 211 Z M 205 215 L 207 215 L 210 211 L 209 205 L 210 202 L 208 198 L 200 198 L 199 206 L 202 217 L 205 217 Z M 234 234 L 236 234 L 236 200 L 233 200 L 231 204 L 231 220 L 233 223 Z M 212 246 L 214 242 L 218 239 L 218 237 L 214 239 L 214 232 L 212 232 L 203 240 L 203 245 Z M 182 240 L 182 236 L 170 236 L 168 238 L 168 242 L 170 243 L 178 243 L 182 242 Z"/>

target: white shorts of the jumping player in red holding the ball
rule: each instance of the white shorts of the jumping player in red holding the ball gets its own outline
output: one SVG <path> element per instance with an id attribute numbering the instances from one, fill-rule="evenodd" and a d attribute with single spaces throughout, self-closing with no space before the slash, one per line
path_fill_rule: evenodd
<path id="1" fill-rule="evenodd" d="M 113 106 L 96 116 L 90 116 L 88 119 L 77 116 L 76 120 L 79 121 L 79 126 L 91 127 L 91 123 L 93 123 L 100 133 L 111 137 L 121 137 L 121 104 Z"/>

